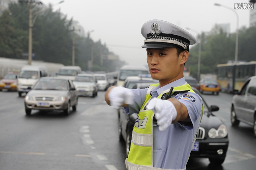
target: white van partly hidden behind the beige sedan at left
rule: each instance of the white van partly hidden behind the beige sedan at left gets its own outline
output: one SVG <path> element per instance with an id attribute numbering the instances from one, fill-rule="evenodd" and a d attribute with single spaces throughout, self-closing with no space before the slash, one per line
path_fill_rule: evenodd
<path id="1" fill-rule="evenodd" d="M 44 66 L 24 66 L 17 76 L 17 91 L 19 97 L 23 92 L 28 93 L 31 87 L 41 78 L 48 76 Z"/>

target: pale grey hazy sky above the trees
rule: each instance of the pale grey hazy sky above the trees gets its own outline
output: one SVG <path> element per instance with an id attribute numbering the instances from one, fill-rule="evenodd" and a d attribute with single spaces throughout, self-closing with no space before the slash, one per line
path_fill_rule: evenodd
<path id="1" fill-rule="evenodd" d="M 60 0 L 41 0 L 42 3 L 57 4 Z M 151 19 L 161 19 L 187 30 L 197 37 L 198 33 L 210 31 L 215 24 L 230 23 L 230 31 L 237 27 L 235 12 L 219 3 L 234 9 L 235 3 L 249 3 L 249 0 L 64 0 L 55 5 L 60 11 L 78 21 L 87 34 L 94 30 L 94 41 L 106 43 L 121 60 L 132 65 L 146 64 L 146 51 L 141 46 L 144 37 L 140 29 Z M 255 6 L 256 7 L 256 6 Z M 239 28 L 249 27 L 250 10 L 236 9 L 239 15 Z M 235 50 L 235 47 L 234 47 Z"/>

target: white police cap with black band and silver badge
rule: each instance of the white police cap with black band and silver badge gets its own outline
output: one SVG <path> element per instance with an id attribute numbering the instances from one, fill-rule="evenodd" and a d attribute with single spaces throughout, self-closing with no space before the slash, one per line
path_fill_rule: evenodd
<path id="1" fill-rule="evenodd" d="M 182 47 L 189 50 L 189 45 L 196 43 L 196 38 L 188 31 L 158 19 L 143 24 L 141 34 L 146 38 L 142 48 Z"/>

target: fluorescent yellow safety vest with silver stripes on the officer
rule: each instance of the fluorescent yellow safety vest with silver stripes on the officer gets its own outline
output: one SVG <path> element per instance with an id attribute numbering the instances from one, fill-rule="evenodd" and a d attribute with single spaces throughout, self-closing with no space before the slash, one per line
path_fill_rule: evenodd
<path id="1" fill-rule="evenodd" d="M 150 92 L 159 84 L 152 84 L 149 86 L 146 93 L 146 100 L 141 107 L 141 110 L 136 118 L 130 151 L 127 159 L 127 168 L 129 170 L 136 169 L 137 165 L 153 167 L 153 116 L 152 110 L 144 109 L 151 99 Z M 168 93 L 170 89 L 162 91 L 157 97 L 160 99 L 163 94 Z M 189 84 L 174 87 L 173 92 L 190 90 L 194 92 Z"/>

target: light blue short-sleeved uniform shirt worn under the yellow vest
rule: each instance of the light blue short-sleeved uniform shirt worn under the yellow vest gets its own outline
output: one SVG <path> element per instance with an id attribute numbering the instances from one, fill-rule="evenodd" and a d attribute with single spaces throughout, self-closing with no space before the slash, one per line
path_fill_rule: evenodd
<path id="1" fill-rule="evenodd" d="M 157 86 L 151 92 L 152 98 L 158 97 L 159 94 L 164 90 L 170 89 L 171 87 L 181 86 L 185 83 L 186 80 L 183 77 L 161 88 Z M 134 93 L 134 104 L 129 105 L 128 108 L 125 108 L 126 114 L 138 113 L 146 99 L 147 88 L 131 90 Z M 189 96 L 189 98 L 186 98 L 183 95 Z M 187 107 L 191 123 L 190 125 L 184 125 L 182 122 L 176 122 L 171 124 L 163 132 L 159 131 L 158 125 L 153 126 L 153 165 L 157 168 L 185 168 L 192 149 L 193 139 L 200 125 L 202 112 L 201 97 L 188 91 L 185 93 L 179 93 L 174 98 L 178 99 Z"/>

